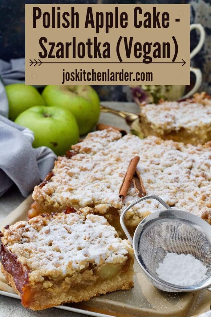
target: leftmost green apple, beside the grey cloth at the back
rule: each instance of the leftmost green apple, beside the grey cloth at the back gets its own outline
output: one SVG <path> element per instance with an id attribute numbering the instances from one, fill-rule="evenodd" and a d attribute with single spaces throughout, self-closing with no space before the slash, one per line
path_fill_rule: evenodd
<path id="1" fill-rule="evenodd" d="M 17 116 L 28 108 L 44 106 L 45 101 L 33 86 L 25 84 L 11 84 L 5 87 L 9 101 L 9 119 L 15 120 Z"/>

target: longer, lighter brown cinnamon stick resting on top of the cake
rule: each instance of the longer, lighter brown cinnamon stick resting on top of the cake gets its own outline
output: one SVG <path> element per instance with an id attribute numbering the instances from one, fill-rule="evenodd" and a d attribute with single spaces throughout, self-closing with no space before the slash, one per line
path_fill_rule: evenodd
<path id="1" fill-rule="evenodd" d="M 130 164 L 127 168 L 127 172 L 125 174 L 125 177 L 123 179 L 123 182 L 121 184 L 121 187 L 120 187 L 120 191 L 119 191 L 119 197 L 123 200 L 126 195 L 127 195 L 127 192 L 130 188 L 130 184 L 132 182 L 132 179 L 133 179 L 133 175 L 135 173 L 135 170 L 136 170 L 136 167 L 139 163 L 139 160 L 140 160 L 140 157 L 139 156 L 135 156 L 131 161 L 130 161 Z"/>

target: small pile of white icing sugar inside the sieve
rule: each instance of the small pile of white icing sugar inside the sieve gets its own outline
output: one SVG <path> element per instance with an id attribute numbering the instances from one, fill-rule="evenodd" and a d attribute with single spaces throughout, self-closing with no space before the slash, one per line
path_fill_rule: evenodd
<path id="1" fill-rule="evenodd" d="M 171 284 L 179 286 L 196 285 L 206 278 L 207 267 L 190 254 L 167 253 L 158 264 L 156 273 Z"/>

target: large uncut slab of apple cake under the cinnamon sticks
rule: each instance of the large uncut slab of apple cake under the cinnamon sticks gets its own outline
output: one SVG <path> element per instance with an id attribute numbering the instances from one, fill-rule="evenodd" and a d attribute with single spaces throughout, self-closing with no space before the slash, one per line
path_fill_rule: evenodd
<path id="1" fill-rule="evenodd" d="M 173 208 L 183 209 L 211 223 L 211 142 L 204 145 L 162 140 L 155 136 L 140 139 L 113 129 L 88 134 L 72 146 L 68 156 L 59 157 L 47 179 L 34 188 L 32 218 L 67 206 L 90 207 L 104 215 L 121 235 L 122 210 L 139 198 L 133 183 L 124 200 L 119 190 L 132 158 L 140 157 L 137 172 L 146 194 L 157 195 Z M 149 213 L 163 209 L 154 200 L 137 204 L 125 216 L 128 230 Z"/>

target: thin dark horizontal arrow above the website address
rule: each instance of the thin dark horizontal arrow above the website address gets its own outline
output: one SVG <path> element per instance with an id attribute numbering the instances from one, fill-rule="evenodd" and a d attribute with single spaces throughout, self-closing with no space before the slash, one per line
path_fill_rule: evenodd
<path id="1" fill-rule="evenodd" d="M 40 61 L 40 59 L 31 60 L 29 59 L 29 66 L 40 66 L 41 64 L 182 64 L 182 67 L 186 64 L 186 62 L 182 59 L 182 61 L 152 61 L 151 63 L 144 63 L 143 61 L 112 61 L 112 62 L 104 62 L 104 61 Z"/>

